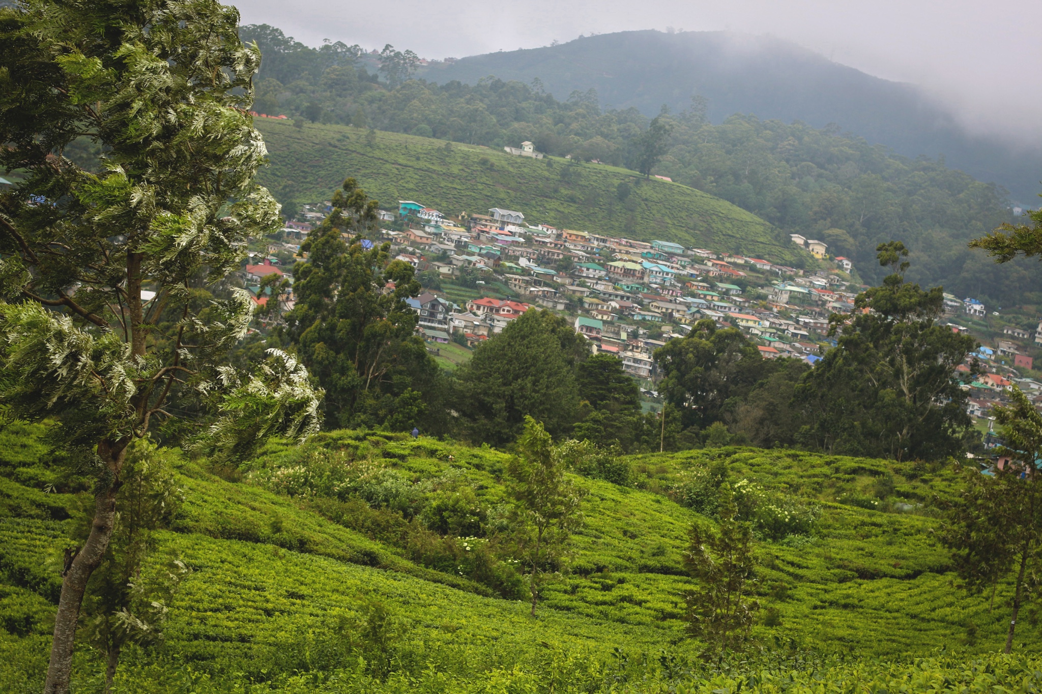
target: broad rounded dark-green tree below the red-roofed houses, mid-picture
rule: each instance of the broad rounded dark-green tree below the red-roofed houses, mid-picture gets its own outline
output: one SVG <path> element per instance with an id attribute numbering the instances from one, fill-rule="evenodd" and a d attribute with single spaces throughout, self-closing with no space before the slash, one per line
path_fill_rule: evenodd
<path id="1" fill-rule="evenodd" d="M 503 445 L 526 415 L 551 435 L 568 433 L 579 405 L 575 363 L 589 355 L 584 342 L 566 318 L 529 309 L 479 345 L 456 370 L 453 409 L 465 435 Z"/>

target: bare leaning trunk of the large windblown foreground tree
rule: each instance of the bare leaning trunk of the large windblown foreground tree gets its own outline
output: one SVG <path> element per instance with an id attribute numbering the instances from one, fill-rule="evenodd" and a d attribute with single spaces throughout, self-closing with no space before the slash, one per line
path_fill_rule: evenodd
<path id="1" fill-rule="evenodd" d="M 47 682 L 44 694 L 68 694 L 72 676 L 72 649 L 76 638 L 76 622 L 83 602 L 86 582 L 94 569 L 101 564 L 101 558 L 113 536 L 116 519 L 116 492 L 118 486 L 110 484 L 95 495 L 94 522 L 91 535 L 65 571 L 61 581 L 61 598 L 54 616 L 54 641 L 51 643 L 51 661 L 47 667 Z"/>

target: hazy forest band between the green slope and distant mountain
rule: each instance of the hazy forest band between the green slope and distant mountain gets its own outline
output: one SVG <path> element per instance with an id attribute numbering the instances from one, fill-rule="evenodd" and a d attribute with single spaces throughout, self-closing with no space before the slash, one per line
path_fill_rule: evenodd
<path id="1" fill-rule="evenodd" d="M 258 112 L 502 147 L 528 139 L 552 155 L 637 166 L 637 140 L 649 119 L 636 108 L 605 109 L 594 91 L 566 101 L 541 85 L 494 77 L 473 85 L 408 80 L 390 88 L 354 60 L 356 47 L 304 46 L 268 26 L 246 26 L 265 56 Z M 988 305 L 1042 290 L 1029 263 L 996 274 L 966 242 L 1010 220 L 1000 188 L 948 169 L 943 159 L 909 159 L 879 145 L 801 123 L 736 114 L 720 125 L 704 100 L 665 118 L 669 151 L 655 174 L 719 196 L 791 233 L 821 238 L 850 258 L 869 283 L 882 280 L 875 247 L 901 238 L 912 250 L 910 280 L 943 284 Z"/>

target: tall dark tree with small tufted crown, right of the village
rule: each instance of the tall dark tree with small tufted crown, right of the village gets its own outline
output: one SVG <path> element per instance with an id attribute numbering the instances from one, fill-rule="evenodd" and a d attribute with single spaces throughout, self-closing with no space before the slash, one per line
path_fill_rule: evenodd
<path id="1" fill-rule="evenodd" d="M 796 388 L 809 422 L 799 438 L 830 453 L 943 460 L 972 434 L 956 367 L 976 341 L 938 323 L 941 287 L 904 281 L 903 243 L 876 251 L 892 273 L 857 297 L 852 315 L 832 316 L 838 345 Z"/>

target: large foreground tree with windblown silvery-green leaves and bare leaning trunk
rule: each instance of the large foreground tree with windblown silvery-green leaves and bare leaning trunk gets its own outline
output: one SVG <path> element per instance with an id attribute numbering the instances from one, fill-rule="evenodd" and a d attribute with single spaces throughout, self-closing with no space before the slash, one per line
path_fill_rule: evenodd
<path id="1" fill-rule="evenodd" d="M 319 423 L 320 393 L 289 355 L 253 375 L 222 365 L 252 306 L 219 281 L 279 223 L 251 182 L 265 156 L 248 114 L 260 56 L 238 24 L 214 0 L 0 8 L 0 164 L 28 174 L 0 196 L 0 404 L 6 420 L 53 421 L 55 459 L 95 479 L 46 692 L 69 691 L 131 441 L 162 425 L 185 447 L 244 456 Z M 102 173 L 61 156 L 77 137 L 100 145 Z M 221 298 L 200 300 L 206 286 Z"/>

